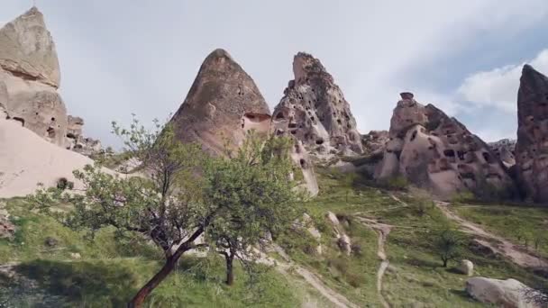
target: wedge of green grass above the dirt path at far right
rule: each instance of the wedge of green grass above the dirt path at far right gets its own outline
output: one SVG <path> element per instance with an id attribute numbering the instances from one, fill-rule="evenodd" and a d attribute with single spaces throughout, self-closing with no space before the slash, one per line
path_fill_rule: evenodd
<path id="1" fill-rule="evenodd" d="M 498 204 L 455 204 L 453 208 L 470 222 L 548 258 L 548 208 Z"/>

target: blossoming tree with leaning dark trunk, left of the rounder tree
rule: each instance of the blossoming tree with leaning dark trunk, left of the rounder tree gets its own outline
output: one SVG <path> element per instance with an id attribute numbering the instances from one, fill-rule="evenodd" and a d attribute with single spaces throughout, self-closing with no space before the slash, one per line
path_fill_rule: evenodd
<path id="1" fill-rule="evenodd" d="M 87 230 L 91 236 L 101 228 L 114 226 L 121 234 L 137 232 L 151 239 L 163 252 L 165 263 L 128 303 L 140 307 L 185 252 L 205 246 L 196 239 L 221 209 L 203 201 L 198 166 L 206 158 L 198 145 L 178 142 L 171 126 L 159 122 L 153 131 L 135 119 L 129 130 L 115 122 L 113 129 L 126 150 L 141 162 L 141 176 L 120 177 L 99 166 L 86 166 L 74 172 L 84 186 L 81 194 L 50 188 L 39 191 L 31 201 L 68 227 Z M 50 212 L 50 207 L 59 202 L 73 204 L 74 210 Z"/>

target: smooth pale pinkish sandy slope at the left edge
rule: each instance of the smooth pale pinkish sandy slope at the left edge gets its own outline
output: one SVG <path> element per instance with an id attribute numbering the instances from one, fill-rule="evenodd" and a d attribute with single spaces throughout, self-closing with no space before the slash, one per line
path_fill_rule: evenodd
<path id="1" fill-rule="evenodd" d="M 92 163 L 41 139 L 19 122 L 0 120 L 0 198 L 32 194 L 37 183 L 55 186 L 59 177 L 74 181 L 72 171 Z"/>

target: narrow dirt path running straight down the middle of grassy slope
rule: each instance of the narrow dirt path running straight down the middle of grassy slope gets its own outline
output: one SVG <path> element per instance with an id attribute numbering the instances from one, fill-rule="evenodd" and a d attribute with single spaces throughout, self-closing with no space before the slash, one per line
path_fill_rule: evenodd
<path id="1" fill-rule="evenodd" d="M 380 303 L 382 303 L 382 306 L 385 308 L 390 308 L 390 304 L 382 295 L 382 278 L 384 277 L 384 274 L 388 268 L 388 265 L 390 265 L 384 246 L 387 241 L 388 234 L 392 230 L 392 226 L 385 223 L 379 223 L 369 218 L 364 218 L 364 217 L 357 217 L 357 218 L 361 223 L 368 226 L 370 229 L 377 232 L 377 234 L 379 235 L 377 256 L 382 262 L 380 262 L 379 270 L 377 271 L 377 294 L 379 294 L 379 300 L 380 300 Z"/>

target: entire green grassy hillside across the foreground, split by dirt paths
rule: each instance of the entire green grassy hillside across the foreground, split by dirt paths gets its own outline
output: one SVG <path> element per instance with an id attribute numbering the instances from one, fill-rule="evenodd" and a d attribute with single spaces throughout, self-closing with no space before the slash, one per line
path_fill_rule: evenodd
<path id="1" fill-rule="evenodd" d="M 362 307 L 379 307 L 376 291 L 380 263 L 377 234 L 354 219 L 359 214 L 396 226 L 386 244 L 391 267 L 384 277 L 383 294 L 390 303 L 398 307 L 414 304 L 427 307 L 481 306 L 463 292 L 466 276 L 454 273 L 451 268 L 440 267 L 431 239 L 435 231 L 452 223 L 446 221 L 430 202 L 364 186 L 361 179 L 355 176 L 325 170 L 319 170 L 318 176 L 322 193 L 305 205 L 316 227 L 322 232 L 323 255 L 314 253 L 315 240 L 306 232 L 288 231 L 279 236 L 279 244 L 298 263 L 320 274 L 326 285 L 344 294 L 353 303 Z M 409 206 L 402 206 L 390 194 L 397 195 Z M 505 210 L 500 212 L 501 208 Z M 32 286 L 35 290 L 32 296 L 25 292 L 23 301 L 47 303 L 50 300 L 50 303 L 68 305 L 118 306 L 160 267 L 158 252 L 142 240 L 116 241 L 112 230 L 101 231 L 95 241 L 83 240 L 84 234 L 69 231 L 48 217 L 28 212 L 20 200 L 11 201 L 8 211 L 21 218 L 14 220 L 19 227 L 15 240 L 0 240 L 0 264 L 21 262 L 19 273 L 37 281 Z M 351 257 L 340 253 L 333 240 L 333 230 L 324 219 L 327 211 L 337 213 L 342 218 L 344 229 L 359 252 Z M 459 207 L 458 213 L 510 238 L 511 234 L 505 233 L 508 225 L 526 225 L 534 231 L 548 218 L 545 211 L 528 208 Z M 44 245 L 47 237 L 59 240 L 56 248 Z M 80 253 L 82 259 L 71 259 L 70 253 L 74 252 Z M 515 277 L 528 285 L 546 283 L 506 260 L 482 257 L 466 247 L 462 254 L 461 258 L 468 258 L 475 264 L 479 276 Z M 454 265 L 453 262 L 451 266 Z M 201 307 L 292 307 L 302 301 L 330 305 L 296 275 L 289 273 L 291 279 L 287 279 L 288 276 L 281 276 L 272 270 L 263 276 L 259 286 L 264 292 L 257 300 L 250 297 L 241 269 L 238 269 L 237 285 L 232 288 L 224 286 L 223 266 L 218 259 L 204 263 L 195 258 L 185 258 L 178 272 L 169 276 L 152 294 L 149 305 L 169 307 L 185 303 Z M 205 278 L 205 269 L 213 275 Z M 12 290 L 11 294 L 16 294 L 16 291 Z M 0 292 L 0 304 L 1 299 Z M 19 303 L 19 306 L 25 306 L 24 302 Z"/>

